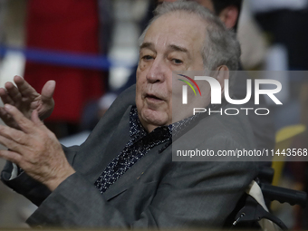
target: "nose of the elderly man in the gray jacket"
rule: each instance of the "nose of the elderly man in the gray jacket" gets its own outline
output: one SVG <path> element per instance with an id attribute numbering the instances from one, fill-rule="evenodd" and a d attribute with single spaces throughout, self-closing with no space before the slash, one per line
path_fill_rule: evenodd
<path id="1" fill-rule="evenodd" d="M 149 68 L 149 72 L 147 73 L 147 80 L 150 83 L 164 82 L 167 72 L 168 67 L 166 63 L 164 63 L 163 59 L 159 59 L 157 57 Z"/>

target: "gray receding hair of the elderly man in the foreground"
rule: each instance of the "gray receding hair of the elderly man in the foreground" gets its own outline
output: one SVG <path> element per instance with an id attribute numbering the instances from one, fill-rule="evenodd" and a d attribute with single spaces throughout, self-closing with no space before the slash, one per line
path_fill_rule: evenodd
<path id="1" fill-rule="evenodd" d="M 204 42 L 201 55 L 207 71 L 214 71 L 220 65 L 226 65 L 230 71 L 236 71 L 238 68 L 241 49 L 236 34 L 227 30 L 225 24 L 212 14 L 206 7 L 198 5 L 195 2 L 179 0 L 174 3 L 163 3 L 155 11 L 155 16 L 150 21 L 148 27 L 140 36 L 140 45 L 144 41 L 145 34 L 149 26 L 160 16 L 172 12 L 184 11 L 189 14 L 197 14 L 207 22 L 206 41 Z"/>

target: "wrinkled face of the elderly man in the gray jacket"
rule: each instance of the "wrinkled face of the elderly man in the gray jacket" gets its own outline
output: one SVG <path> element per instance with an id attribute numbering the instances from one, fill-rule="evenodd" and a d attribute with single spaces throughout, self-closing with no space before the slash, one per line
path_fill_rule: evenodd
<path id="1" fill-rule="evenodd" d="M 205 23 L 194 14 L 165 14 L 150 25 L 140 46 L 136 84 L 139 118 L 149 132 L 172 123 L 172 72 L 204 70 L 205 37 Z"/>

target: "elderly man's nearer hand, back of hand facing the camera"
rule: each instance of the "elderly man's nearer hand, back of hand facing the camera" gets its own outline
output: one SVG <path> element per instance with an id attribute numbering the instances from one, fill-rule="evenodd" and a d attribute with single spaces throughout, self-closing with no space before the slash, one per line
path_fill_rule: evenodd
<path id="1" fill-rule="evenodd" d="M 4 109 L 21 130 L 0 125 L 0 143 L 8 150 L 0 150 L 0 158 L 10 160 L 32 178 L 52 191 L 75 170 L 65 158 L 63 149 L 52 131 L 48 130 L 33 111 L 28 120 L 14 106 Z"/>

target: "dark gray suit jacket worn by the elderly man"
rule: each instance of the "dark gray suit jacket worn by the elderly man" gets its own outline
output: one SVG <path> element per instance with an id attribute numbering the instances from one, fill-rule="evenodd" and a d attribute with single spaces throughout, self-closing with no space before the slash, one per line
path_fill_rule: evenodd
<path id="1" fill-rule="evenodd" d="M 171 146 L 154 147 L 101 195 L 94 182 L 124 148 L 129 135 L 135 87 L 124 91 L 80 147 L 64 148 L 77 171 L 52 193 L 25 173 L 5 184 L 28 197 L 38 209 L 31 226 L 175 227 L 221 226 L 255 178 L 253 162 L 174 162 Z M 193 149 L 253 149 L 245 118 L 211 116 L 199 120 L 176 142 Z M 200 141 L 200 137 L 203 137 Z M 199 140 L 199 141 L 198 141 Z"/>

